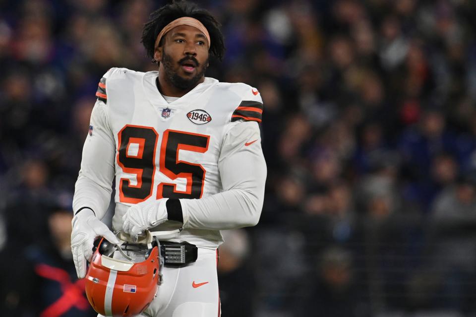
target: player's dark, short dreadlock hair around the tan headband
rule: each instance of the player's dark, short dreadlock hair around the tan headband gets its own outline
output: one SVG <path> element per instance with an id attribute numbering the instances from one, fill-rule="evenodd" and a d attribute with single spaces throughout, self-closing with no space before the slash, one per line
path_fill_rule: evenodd
<path id="1" fill-rule="evenodd" d="M 225 54 L 225 44 L 222 31 L 220 30 L 220 22 L 207 10 L 201 9 L 195 3 L 185 0 L 173 1 L 171 4 L 167 4 L 152 12 L 149 21 L 144 24 L 142 29 L 141 42 L 147 51 L 147 56 L 152 58 L 154 62 L 155 41 L 160 31 L 170 22 L 184 16 L 195 18 L 206 27 L 211 42 L 209 52 L 221 61 Z M 161 39 L 159 46 L 163 44 L 164 38 Z"/>

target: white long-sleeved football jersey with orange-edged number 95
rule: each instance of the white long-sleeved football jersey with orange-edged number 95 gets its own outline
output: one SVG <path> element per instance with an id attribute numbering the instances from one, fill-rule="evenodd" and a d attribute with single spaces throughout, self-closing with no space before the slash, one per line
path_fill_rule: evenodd
<path id="1" fill-rule="evenodd" d="M 219 230 L 259 220 L 266 179 L 260 94 L 206 77 L 169 103 L 157 77 L 157 71 L 111 68 L 101 79 L 73 208 L 91 208 L 102 218 L 115 178 L 115 231 L 131 204 L 179 198 L 184 230 L 171 240 L 216 248 Z M 168 221 L 153 230 L 177 226 Z"/>

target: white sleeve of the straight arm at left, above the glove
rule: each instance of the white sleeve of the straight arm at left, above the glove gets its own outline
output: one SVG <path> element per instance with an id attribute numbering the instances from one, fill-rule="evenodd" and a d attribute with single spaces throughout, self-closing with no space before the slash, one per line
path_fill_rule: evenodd
<path id="1" fill-rule="evenodd" d="M 104 101 L 105 98 L 99 97 L 91 113 L 89 134 L 84 142 L 81 170 L 73 197 L 75 213 L 81 208 L 90 208 L 99 219 L 106 214 L 111 200 L 116 153 Z"/>

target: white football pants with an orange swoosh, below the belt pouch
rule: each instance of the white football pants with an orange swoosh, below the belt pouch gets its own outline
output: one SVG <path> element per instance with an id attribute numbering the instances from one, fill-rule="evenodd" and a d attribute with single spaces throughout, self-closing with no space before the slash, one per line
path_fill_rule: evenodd
<path id="1" fill-rule="evenodd" d="M 217 255 L 216 250 L 198 248 L 195 262 L 163 267 L 157 297 L 139 317 L 219 317 Z"/>

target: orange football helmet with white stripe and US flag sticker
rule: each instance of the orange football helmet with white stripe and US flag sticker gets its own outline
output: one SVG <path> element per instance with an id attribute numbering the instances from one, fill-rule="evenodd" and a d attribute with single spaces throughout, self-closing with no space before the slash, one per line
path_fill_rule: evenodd
<path id="1" fill-rule="evenodd" d="M 158 241 L 152 244 L 145 261 L 138 263 L 109 257 L 114 247 L 104 238 L 100 240 L 86 274 L 86 295 L 103 316 L 139 315 L 159 287 L 160 245 Z"/>

